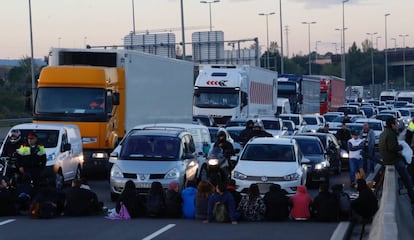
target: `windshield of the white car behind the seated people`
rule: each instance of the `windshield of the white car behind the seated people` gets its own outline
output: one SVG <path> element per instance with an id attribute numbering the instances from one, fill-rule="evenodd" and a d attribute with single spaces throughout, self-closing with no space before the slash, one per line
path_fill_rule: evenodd
<path id="1" fill-rule="evenodd" d="M 248 144 L 240 160 L 295 162 L 295 156 L 292 145 Z"/>

